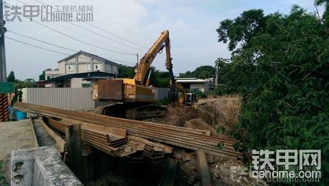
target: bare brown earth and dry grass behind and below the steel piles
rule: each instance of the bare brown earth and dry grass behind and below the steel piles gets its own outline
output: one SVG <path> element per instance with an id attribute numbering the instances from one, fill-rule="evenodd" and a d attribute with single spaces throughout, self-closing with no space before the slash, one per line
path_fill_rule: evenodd
<path id="1" fill-rule="evenodd" d="M 239 119 L 241 111 L 241 99 L 239 96 L 223 96 L 219 98 L 200 99 L 196 116 L 187 120 L 184 127 L 211 131 L 212 135 L 227 137 L 232 125 Z M 167 116 L 162 118 L 149 118 L 145 121 L 172 125 L 175 121 L 188 113 L 189 106 L 167 106 Z M 220 129 L 221 132 L 217 132 Z M 195 152 L 189 152 L 189 161 L 179 161 L 175 174 L 174 185 L 202 185 L 197 168 Z M 267 185 L 264 181 L 249 177 L 245 165 L 240 160 L 232 160 L 214 155 L 207 155 L 208 166 L 212 178 L 212 185 Z M 164 162 L 154 162 L 153 166 L 159 166 Z M 154 170 L 154 169 L 151 169 Z M 160 172 L 158 172 L 160 174 Z M 148 176 L 159 176 L 157 172 L 143 172 Z M 131 179 L 130 179 L 131 178 Z M 105 174 L 99 180 L 89 185 L 152 185 L 141 183 L 141 177 L 135 176 L 127 181 L 127 177 L 113 172 Z"/>

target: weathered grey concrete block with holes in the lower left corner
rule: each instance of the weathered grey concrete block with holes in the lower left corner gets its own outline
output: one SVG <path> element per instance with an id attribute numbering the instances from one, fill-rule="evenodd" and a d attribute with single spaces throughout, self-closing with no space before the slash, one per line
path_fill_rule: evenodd
<path id="1" fill-rule="evenodd" d="M 12 150 L 11 185 L 83 185 L 53 147 Z"/>

